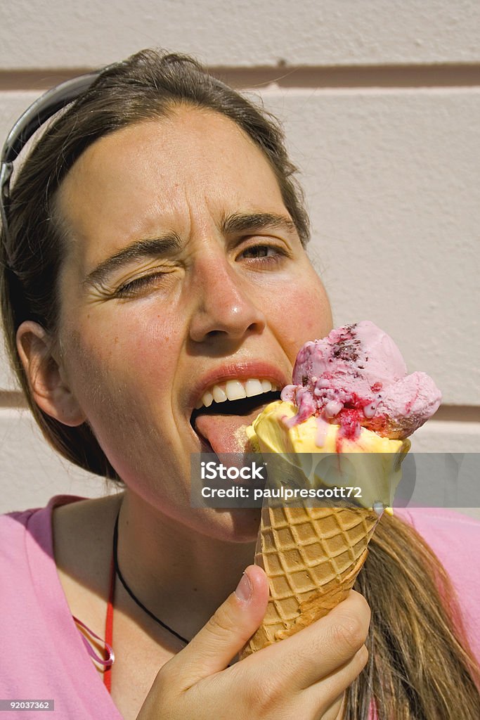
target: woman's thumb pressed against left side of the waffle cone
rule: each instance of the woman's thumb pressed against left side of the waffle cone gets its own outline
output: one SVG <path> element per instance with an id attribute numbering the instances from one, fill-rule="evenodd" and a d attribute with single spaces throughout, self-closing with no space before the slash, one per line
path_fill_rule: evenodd
<path id="1" fill-rule="evenodd" d="M 249 565 L 235 592 L 181 651 L 182 660 L 188 661 L 182 668 L 184 679 L 188 675 L 193 684 L 225 670 L 261 624 L 267 603 L 268 578 L 261 567 Z"/>

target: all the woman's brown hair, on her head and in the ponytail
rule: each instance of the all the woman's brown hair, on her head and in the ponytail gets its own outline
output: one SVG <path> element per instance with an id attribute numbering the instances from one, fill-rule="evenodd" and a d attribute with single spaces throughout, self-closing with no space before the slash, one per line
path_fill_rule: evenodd
<path id="1" fill-rule="evenodd" d="M 50 444 L 71 462 L 119 480 L 87 423 L 64 426 L 32 400 L 15 336 L 35 320 L 55 336 L 56 281 L 63 259 L 55 192 L 95 140 L 121 127 L 163 117 L 178 104 L 230 117 L 271 163 L 303 243 L 309 237 L 302 192 L 277 122 L 210 76 L 195 60 L 144 50 L 101 73 L 43 133 L 12 190 L 8 237 L 0 243 L 0 300 L 9 355 L 30 408 Z M 479 669 L 464 637 L 448 576 L 415 531 L 384 516 L 357 589 L 371 606 L 368 665 L 348 690 L 347 720 L 478 720 Z"/>

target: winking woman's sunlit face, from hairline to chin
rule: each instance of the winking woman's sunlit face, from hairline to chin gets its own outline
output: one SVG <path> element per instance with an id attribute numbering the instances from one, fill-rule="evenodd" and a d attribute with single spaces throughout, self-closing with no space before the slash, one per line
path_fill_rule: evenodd
<path id="1" fill-rule="evenodd" d="M 58 210 L 59 339 L 81 413 L 133 491 L 204 533 L 243 535 L 245 511 L 190 508 L 190 458 L 205 441 L 238 450 L 258 408 L 219 404 L 196 431 L 192 411 L 227 381 L 290 382 L 302 343 L 331 328 L 268 161 L 232 121 L 184 107 L 91 145 Z"/>

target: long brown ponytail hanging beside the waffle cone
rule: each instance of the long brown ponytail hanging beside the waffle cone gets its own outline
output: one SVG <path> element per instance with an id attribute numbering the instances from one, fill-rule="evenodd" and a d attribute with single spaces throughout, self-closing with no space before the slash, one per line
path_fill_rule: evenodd
<path id="1" fill-rule="evenodd" d="M 412 526 L 386 513 L 355 585 L 371 608 L 368 664 L 345 720 L 478 720 L 480 668 L 443 565 Z"/>

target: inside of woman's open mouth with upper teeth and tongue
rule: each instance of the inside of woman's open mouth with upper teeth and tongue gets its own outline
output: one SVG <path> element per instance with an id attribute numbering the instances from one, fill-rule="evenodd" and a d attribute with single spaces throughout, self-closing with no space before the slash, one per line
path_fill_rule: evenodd
<path id="1" fill-rule="evenodd" d="M 216 454 L 245 452 L 246 426 L 275 400 L 280 400 L 280 389 L 270 380 L 228 380 L 203 393 L 190 424 L 204 450 Z"/>

